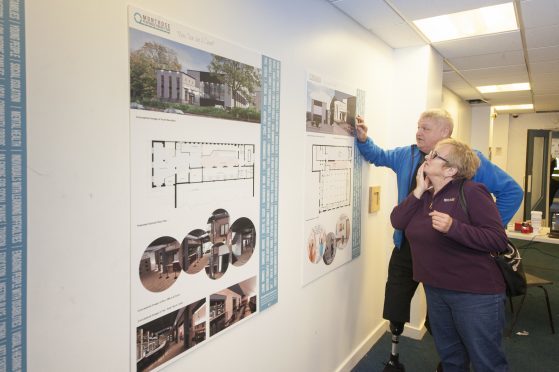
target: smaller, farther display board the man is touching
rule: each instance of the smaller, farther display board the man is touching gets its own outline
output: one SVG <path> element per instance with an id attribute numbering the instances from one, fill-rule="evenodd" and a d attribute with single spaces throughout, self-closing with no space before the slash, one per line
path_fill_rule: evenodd
<path id="1" fill-rule="evenodd" d="M 364 99 L 361 90 L 334 88 L 308 75 L 304 285 L 360 253 L 361 161 L 354 129 Z"/>

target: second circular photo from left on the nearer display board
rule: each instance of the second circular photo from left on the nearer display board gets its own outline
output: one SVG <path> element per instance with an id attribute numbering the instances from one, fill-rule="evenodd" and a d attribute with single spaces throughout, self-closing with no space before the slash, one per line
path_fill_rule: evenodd
<path id="1" fill-rule="evenodd" d="M 188 274 L 200 272 L 208 263 L 211 247 L 208 231 L 196 229 L 189 232 L 181 244 L 182 269 Z"/>

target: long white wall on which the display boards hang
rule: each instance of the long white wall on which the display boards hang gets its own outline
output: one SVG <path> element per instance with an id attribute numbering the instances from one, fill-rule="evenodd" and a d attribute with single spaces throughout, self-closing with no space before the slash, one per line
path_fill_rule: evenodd
<path id="1" fill-rule="evenodd" d="M 29 371 L 126 371 L 130 353 L 130 157 L 124 0 L 26 1 Z M 359 259 L 301 288 L 306 69 L 366 90 L 385 146 L 424 109 L 390 100 L 392 51 L 323 0 L 156 1 L 135 5 L 282 61 L 279 304 L 207 342 L 169 370 L 332 371 L 382 335 L 389 172 L 381 212 L 364 209 Z M 417 51 L 433 58 L 431 51 Z M 413 53 L 411 53 L 413 54 Z M 412 65 L 410 63 L 410 65 Z M 425 65 L 425 68 L 429 68 Z M 418 83 L 426 89 L 427 81 Z M 410 123 L 410 120 L 412 123 Z M 378 123 L 378 125 L 377 125 Z M 406 132 L 407 133 L 407 132 Z M 366 204 L 366 201 L 365 201 Z M 242 352 L 233 345 L 242 345 Z M 386 351 L 388 354 L 388 350 Z M 241 367 L 242 365 L 242 367 Z"/>

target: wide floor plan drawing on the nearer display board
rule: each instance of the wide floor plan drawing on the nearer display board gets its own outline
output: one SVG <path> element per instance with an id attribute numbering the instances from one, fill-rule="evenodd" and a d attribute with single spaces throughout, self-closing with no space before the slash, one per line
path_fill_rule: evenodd
<path id="1" fill-rule="evenodd" d="M 255 145 L 152 141 L 152 188 L 243 181 L 254 196 Z"/>

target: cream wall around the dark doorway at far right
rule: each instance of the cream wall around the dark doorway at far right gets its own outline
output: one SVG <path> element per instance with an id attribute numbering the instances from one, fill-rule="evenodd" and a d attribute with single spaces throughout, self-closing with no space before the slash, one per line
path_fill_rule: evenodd
<path id="1" fill-rule="evenodd" d="M 520 114 L 517 118 L 505 115 L 504 120 L 509 122 L 507 172 L 524 188 L 528 129 L 559 130 L 559 113 Z M 524 203 L 512 221 L 522 221 L 523 211 Z"/>

